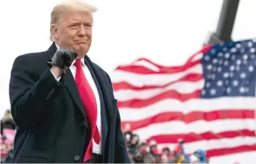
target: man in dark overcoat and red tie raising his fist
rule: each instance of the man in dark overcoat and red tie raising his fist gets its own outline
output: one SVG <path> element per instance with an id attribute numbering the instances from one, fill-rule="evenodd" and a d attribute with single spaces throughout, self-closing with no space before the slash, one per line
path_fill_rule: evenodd
<path id="1" fill-rule="evenodd" d="M 57 4 L 50 48 L 15 59 L 13 163 L 129 163 L 110 77 L 86 55 L 95 11 L 82 1 Z"/>

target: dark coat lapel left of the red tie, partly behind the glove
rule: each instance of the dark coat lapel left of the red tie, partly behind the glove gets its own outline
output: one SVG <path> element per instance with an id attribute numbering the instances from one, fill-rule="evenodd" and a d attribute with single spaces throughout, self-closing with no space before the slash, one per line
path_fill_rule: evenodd
<path id="1" fill-rule="evenodd" d="M 51 61 L 51 58 L 54 56 L 54 53 L 56 51 L 57 51 L 57 47 L 55 46 L 55 43 L 52 43 L 50 48 L 48 49 L 49 61 Z M 79 110 L 82 112 L 82 115 L 84 116 L 86 121 L 87 119 L 85 117 L 85 110 L 83 110 L 82 101 L 80 99 L 79 92 L 77 89 L 77 84 L 74 81 L 74 76 L 72 75 L 69 69 L 68 71 L 66 71 L 66 74 L 63 75 L 63 77 L 60 79 L 60 82 L 63 82 L 63 85 L 65 85 L 65 88 L 68 89 L 68 92 L 71 94 L 72 99 L 74 100 Z"/>

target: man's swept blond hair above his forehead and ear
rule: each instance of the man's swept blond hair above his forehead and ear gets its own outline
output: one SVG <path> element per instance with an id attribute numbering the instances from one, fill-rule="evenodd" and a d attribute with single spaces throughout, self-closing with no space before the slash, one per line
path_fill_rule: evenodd
<path id="1" fill-rule="evenodd" d="M 87 4 L 83 1 L 79 1 L 79 0 L 63 1 L 62 3 L 54 6 L 54 8 L 51 10 L 51 24 L 58 24 L 62 14 L 66 11 L 85 11 L 91 14 L 96 12 L 96 10 L 97 10 L 96 7 L 90 4 Z M 91 18 L 93 20 L 92 15 L 91 15 Z M 51 32 L 51 27 L 50 27 L 50 32 Z M 52 32 L 50 35 L 50 40 L 53 41 Z"/>

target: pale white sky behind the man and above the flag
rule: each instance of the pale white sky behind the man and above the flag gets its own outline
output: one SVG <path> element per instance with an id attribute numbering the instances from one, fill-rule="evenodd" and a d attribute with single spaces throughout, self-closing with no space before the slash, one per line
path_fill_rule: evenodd
<path id="1" fill-rule="evenodd" d="M 8 85 L 15 57 L 45 51 L 50 13 L 60 0 L 1 2 L 0 115 L 10 107 Z M 94 14 L 93 44 L 89 57 L 110 75 L 118 64 L 147 57 L 163 65 L 179 65 L 198 51 L 215 31 L 221 0 L 90 0 Z M 254 38 L 256 1 L 240 2 L 235 40 Z"/>

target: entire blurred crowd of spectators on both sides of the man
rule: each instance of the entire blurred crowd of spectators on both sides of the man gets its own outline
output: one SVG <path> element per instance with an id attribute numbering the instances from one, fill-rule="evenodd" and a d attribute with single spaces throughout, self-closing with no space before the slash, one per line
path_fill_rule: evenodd
<path id="1" fill-rule="evenodd" d="M 154 140 L 143 142 L 140 137 L 131 132 L 129 124 L 124 127 L 124 138 L 131 163 L 207 163 L 204 150 L 197 149 L 193 154 L 186 154 L 185 140 L 179 139 L 174 149 L 164 147 L 159 149 Z M 10 110 L 1 118 L 1 163 L 8 163 L 13 157 L 13 140 L 15 137 L 15 122 Z"/>

